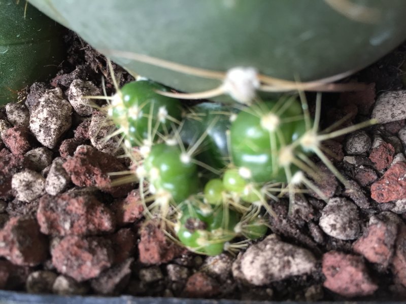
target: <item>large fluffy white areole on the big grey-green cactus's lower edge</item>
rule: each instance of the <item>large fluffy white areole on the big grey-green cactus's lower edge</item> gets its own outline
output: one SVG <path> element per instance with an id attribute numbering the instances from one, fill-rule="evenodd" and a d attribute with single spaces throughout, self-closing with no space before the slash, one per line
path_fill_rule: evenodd
<path id="1" fill-rule="evenodd" d="M 255 98 L 259 86 L 257 70 L 253 67 L 233 67 L 227 71 L 223 82 L 224 92 L 245 104 L 250 104 Z"/>

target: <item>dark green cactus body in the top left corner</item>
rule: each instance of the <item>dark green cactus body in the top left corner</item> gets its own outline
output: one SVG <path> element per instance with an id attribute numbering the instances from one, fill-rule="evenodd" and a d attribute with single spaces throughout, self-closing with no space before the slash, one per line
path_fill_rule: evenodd
<path id="1" fill-rule="evenodd" d="M 36 8 L 25 8 L 25 1 L 0 1 L 0 105 L 16 101 L 17 91 L 57 71 L 60 30 Z"/>

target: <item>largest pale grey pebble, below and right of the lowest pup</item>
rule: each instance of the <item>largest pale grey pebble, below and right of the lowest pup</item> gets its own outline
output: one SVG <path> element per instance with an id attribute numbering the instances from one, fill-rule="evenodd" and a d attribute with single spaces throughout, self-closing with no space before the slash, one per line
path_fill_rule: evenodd
<path id="1" fill-rule="evenodd" d="M 262 286 L 289 277 L 310 274 L 316 269 L 317 260 L 307 249 L 282 242 L 276 235 L 251 245 L 241 258 L 234 261 L 244 279 Z"/>

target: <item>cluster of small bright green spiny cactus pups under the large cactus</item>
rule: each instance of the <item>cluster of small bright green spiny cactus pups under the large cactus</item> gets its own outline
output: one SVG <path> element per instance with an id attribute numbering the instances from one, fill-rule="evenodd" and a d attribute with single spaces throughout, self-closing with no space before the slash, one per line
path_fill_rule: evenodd
<path id="1" fill-rule="evenodd" d="M 253 68 L 233 68 L 220 89 L 210 92 L 210 97 L 216 92 L 229 94 L 238 101 L 232 105 L 202 102 L 186 107 L 174 97 L 208 94 L 174 93 L 150 80 L 130 82 L 121 89 L 116 85 L 116 94 L 105 97 L 107 117 L 117 126 L 112 135 L 121 134 L 127 156 L 136 163 L 131 174 L 139 180 L 145 215 L 158 217 L 168 236 L 207 255 L 263 237 L 266 213 L 275 215 L 270 200 L 286 195 L 293 206 L 296 196 L 307 191 L 325 199 L 316 186 L 323 176 L 314 155 L 347 185 L 321 143 L 374 121 L 320 131 L 321 94 L 312 119 L 302 91 L 354 90 L 356 85 L 327 81 L 284 85 L 285 90 L 297 90 L 300 101 L 293 94 L 261 100 L 256 92 L 264 85 Z M 232 244 L 235 238 L 240 241 Z"/>

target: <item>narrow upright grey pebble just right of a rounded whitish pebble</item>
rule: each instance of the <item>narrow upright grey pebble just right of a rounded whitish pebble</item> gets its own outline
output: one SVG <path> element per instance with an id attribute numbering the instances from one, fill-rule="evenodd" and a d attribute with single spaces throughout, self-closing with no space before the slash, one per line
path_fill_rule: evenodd
<path id="1" fill-rule="evenodd" d="M 64 160 L 56 158 L 49 169 L 45 181 L 45 191 L 50 195 L 57 195 L 63 192 L 71 182 L 70 175 L 63 169 Z"/>

